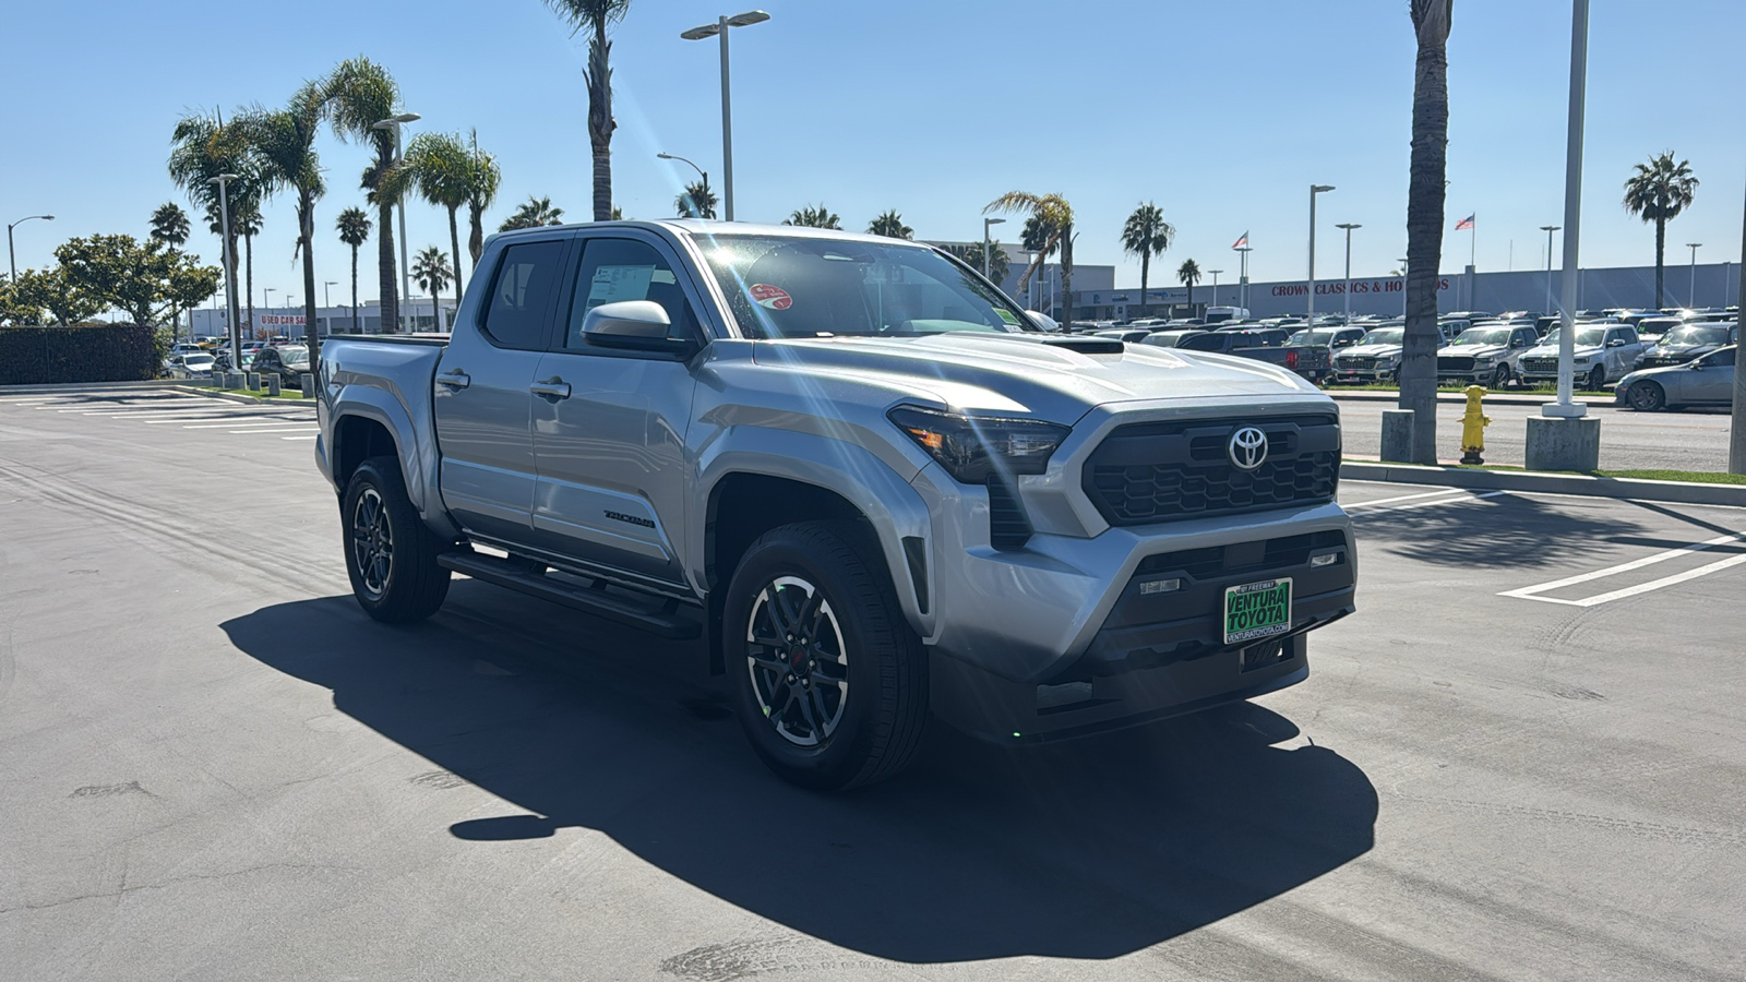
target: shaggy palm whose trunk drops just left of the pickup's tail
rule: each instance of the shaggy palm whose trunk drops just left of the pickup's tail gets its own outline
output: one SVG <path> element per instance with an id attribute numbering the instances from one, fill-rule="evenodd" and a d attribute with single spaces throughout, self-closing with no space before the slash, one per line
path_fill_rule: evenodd
<path id="1" fill-rule="evenodd" d="M 311 370 L 321 360 L 321 337 L 316 328 L 316 201 L 327 194 L 321 178 L 321 159 L 316 156 L 316 136 L 327 119 L 327 87 L 306 82 L 279 110 L 253 112 L 237 119 L 260 161 L 260 185 L 267 194 L 297 192 L 297 248 L 293 257 L 304 260 L 304 341 L 309 344 Z"/>

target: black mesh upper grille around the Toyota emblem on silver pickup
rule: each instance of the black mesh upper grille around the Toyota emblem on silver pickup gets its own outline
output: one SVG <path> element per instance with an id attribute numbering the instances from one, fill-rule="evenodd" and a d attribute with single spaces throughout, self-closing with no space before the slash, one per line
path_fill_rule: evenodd
<path id="1" fill-rule="evenodd" d="M 1268 435 L 1268 458 L 1254 472 L 1227 456 L 1241 426 Z M 1337 482 L 1332 416 L 1135 423 L 1110 433 L 1084 468 L 1086 494 L 1114 526 L 1329 501 Z"/>

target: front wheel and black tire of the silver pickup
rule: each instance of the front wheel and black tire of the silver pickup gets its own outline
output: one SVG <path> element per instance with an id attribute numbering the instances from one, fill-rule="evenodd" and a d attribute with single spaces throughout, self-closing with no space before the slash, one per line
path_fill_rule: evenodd
<path id="1" fill-rule="evenodd" d="M 723 606 L 733 709 L 770 771 L 842 792 L 910 764 L 927 723 L 927 657 L 876 543 L 845 522 L 772 529 L 746 550 Z M 777 634 L 784 626 L 796 633 Z"/>

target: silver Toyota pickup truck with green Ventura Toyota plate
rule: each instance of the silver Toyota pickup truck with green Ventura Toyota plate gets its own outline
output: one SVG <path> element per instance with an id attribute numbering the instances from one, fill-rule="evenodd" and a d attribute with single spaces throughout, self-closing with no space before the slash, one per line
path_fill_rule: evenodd
<path id="1" fill-rule="evenodd" d="M 917 243 L 718 222 L 494 238 L 450 337 L 333 337 L 316 460 L 377 620 L 450 573 L 702 638 L 812 788 L 929 713 L 1006 743 L 1271 692 L 1353 610 L 1334 404 L 1046 334 Z"/>

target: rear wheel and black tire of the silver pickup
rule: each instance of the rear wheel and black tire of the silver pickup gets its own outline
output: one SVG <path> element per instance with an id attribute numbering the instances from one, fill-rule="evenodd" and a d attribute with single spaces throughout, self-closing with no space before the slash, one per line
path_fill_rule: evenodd
<path id="1" fill-rule="evenodd" d="M 365 613 L 384 624 L 410 624 L 436 613 L 449 596 L 449 570 L 436 564 L 443 543 L 407 498 L 395 458 L 375 456 L 358 465 L 346 482 L 339 517 L 351 594 Z"/>

